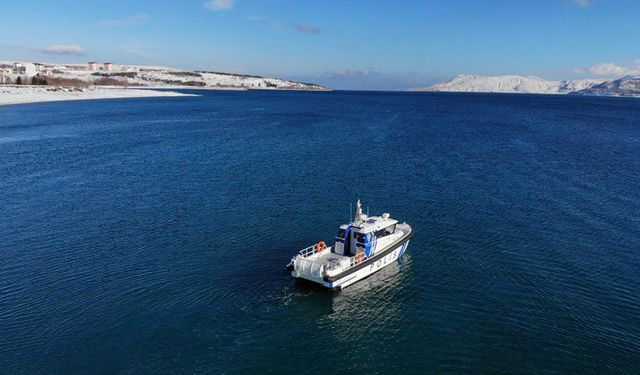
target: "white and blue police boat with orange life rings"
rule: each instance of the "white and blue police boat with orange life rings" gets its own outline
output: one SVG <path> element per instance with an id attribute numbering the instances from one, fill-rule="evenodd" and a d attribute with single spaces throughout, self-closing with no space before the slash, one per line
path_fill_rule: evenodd
<path id="1" fill-rule="evenodd" d="M 297 279 L 340 290 L 399 260 L 412 237 L 409 224 L 388 213 L 368 216 L 358 199 L 355 218 L 340 226 L 332 246 L 319 241 L 300 250 L 287 269 Z"/>

